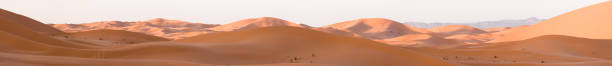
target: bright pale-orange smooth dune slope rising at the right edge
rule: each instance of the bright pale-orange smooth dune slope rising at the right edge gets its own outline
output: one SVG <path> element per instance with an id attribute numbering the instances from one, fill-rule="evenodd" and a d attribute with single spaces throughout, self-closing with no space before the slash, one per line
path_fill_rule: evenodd
<path id="1" fill-rule="evenodd" d="M 591 39 L 612 39 L 612 1 L 588 6 L 532 26 L 512 30 L 493 42 L 516 41 L 542 35 L 567 35 Z"/>

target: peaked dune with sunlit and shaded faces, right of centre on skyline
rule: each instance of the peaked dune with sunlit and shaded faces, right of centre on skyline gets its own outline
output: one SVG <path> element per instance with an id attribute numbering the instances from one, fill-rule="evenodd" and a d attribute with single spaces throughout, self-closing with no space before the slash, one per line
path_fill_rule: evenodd
<path id="1" fill-rule="evenodd" d="M 425 29 L 406 26 L 393 20 L 383 18 L 363 18 L 340 22 L 323 28 L 333 28 L 357 33 L 369 39 L 388 39 L 405 34 L 428 33 Z"/>

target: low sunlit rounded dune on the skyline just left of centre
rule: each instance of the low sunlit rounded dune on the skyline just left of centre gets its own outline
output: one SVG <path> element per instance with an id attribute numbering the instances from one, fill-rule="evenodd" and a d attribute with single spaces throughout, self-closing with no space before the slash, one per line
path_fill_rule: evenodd
<path id="1" fill-rule="evenodd" d="M 234 31 L 234 30 L 244 30 L 250 28 L 259 28 L 259 27 L 271 27 L 271 26 L 293 26 L 293 27 L 304 27 L 307 28 L 309 26 L 304 24 L 295 24 L 283 19 L 274 18 L 274 17 L 259 17 L 259 18 L 249 18 L 244 20 L 235 21 L 229 24 L 223 24 L 221 26 L 209 28 L 214 31 Z"/>

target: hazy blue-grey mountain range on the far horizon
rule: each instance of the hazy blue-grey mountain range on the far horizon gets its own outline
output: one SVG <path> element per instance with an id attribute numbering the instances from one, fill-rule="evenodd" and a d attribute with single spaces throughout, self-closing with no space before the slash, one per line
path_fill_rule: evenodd
<path id="1" fill-rule="evenodd" d="M 531 25 L 543 21 L 545 19 L 539 18 L 527 18 L 527 19 L 518 19 L 518 20 L 498 20 L 498 21 L 481 21 L 481 22 L 465 22 L 465 23 L 448 23 L 448 22 L 404 22 L 406 25 L 420 27 L 420 28 L 432 28 L 437 26 L 445 26 L 445 25 L 468 25 L 476 28 L 494 28 L 494 27 L 516 27 L 521 25 Z"/>

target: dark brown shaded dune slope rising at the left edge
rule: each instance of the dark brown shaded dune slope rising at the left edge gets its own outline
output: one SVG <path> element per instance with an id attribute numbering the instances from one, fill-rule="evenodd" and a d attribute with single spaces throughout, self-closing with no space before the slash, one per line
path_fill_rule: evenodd
<path id="1" fill-rule="evenodd" d="M 63 41 L 63 40 L 57 40 L 55 38 L 49 37 L 50 35 L 47 34 L 63 34 L 63 32 L 59 31 L 58 32 L 41 32 L 41 31 L 55 31 L 56 29 L 52 29 L 51 27 L 48 27 L 42 23 L 29 23 L 29 22 L 35 22 L 34 20 L 22 20 L 22 19 L 29 19 L 27 17 L 23 17 L 21 15 L 18 14 L 14 14 L 12 12 L 8 12 L 8 11 L 2 11 L 2 14 L 0 14 L 0 26 L 2 26 L 2 28 L 0 28 L 0 30 L 3 33 L 3 37 L 2 40 L 3 42 L 7 43 L 7 44 L 14 44 L 15 46 L 22 46 L 20 45 L 20 43 L 13 43 L 13 42 L 20 42 L 20 41 L 13 41 L 13 40 L 21 40 L 24 39 L 24 42 L 31 42 L 31 43 L 45 43 L 43 45 L 45 46 L 54 46 L 54 47 L 69 47 L 69 48 L 90 48 L 89 46 L 86 45 L 79 45 L 79 44 L 75 44 L 72 42 L 68 42 L 68 41 Z M 23 24 L 38 24 L 39 26 L 26 26 Z M 51 28 L 49 30 L 45 30 L 45 29 L 33 29 L 32 27 L 48 27 Z M 46 29 L 48 29 L 46 28 Z M 38 31 L 37 31 L 38 30 Z M 26 44 L 23 44 L 26 45 Z M 10 46 L 2 46 L 2 47 L 7 47 L 10 48 Z"/>

